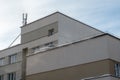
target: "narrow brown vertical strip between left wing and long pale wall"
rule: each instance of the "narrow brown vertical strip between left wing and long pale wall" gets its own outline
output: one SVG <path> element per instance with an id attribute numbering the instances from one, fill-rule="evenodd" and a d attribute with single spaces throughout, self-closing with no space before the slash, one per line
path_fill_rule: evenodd
<path id="1" fill-rule="evenodd" d="M 22 73 L 21 80 L 26 80 L 26 54 L 28 53 L 28 48 L 22 50 Z"/>

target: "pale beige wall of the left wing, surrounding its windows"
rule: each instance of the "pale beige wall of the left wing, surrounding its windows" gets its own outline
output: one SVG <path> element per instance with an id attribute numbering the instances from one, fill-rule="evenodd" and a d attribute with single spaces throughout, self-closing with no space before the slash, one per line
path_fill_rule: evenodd
<path id="1" fill-rule="evenodd" d="M 5 57 L 4 65 L 0 67 L 0 75 L 4 75 L 4 80 L 7 80 L 8 73 L 16 72 L 16 80 L 21 79 L 21 45 L 17 45 L 15 47 L 11 47 L 5 50 L 0 51 L 0 58 Z M 9 63 L 9 56 L 17 54 L 16 63 Z"/>

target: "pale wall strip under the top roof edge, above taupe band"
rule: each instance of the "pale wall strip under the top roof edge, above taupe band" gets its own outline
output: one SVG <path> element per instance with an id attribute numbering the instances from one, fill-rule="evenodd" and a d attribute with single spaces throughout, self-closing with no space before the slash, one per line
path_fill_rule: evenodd
<path id="1" fill-rule="evenodd" d="M 21 34 L 25 34 L 31 31 L 34 31 L 36 29 L 39 29 L 43 26 L 49 25 L 51 23 L 57 22 L 58 21 L 58 13 L 54 13 L 54 15 L 48 15 L 42 19 L 39 19 L 35 22 L 32 22 L 28 25 L 25 25 L 21 27 Z"/>

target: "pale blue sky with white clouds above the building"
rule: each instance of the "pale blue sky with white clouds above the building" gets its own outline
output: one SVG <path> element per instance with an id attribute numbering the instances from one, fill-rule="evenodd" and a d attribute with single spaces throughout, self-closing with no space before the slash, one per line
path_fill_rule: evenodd
<path id="1" fill-rule="evenodd" d="M 0 50 L 21 33 L 22 13 L 30 23 L 59 11 L 120 38 L 120 0 L 0 0 L 0 10 Z"/>

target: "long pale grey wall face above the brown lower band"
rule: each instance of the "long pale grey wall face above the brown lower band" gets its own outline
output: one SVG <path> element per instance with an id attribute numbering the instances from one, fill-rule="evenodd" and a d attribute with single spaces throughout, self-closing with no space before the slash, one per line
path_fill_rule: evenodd
<path id="1" fill-rule="evenodd" d="M 107 39 L 99 37 L 28 56 L 27 75 L 107 58 L 109 58 Z"/>

